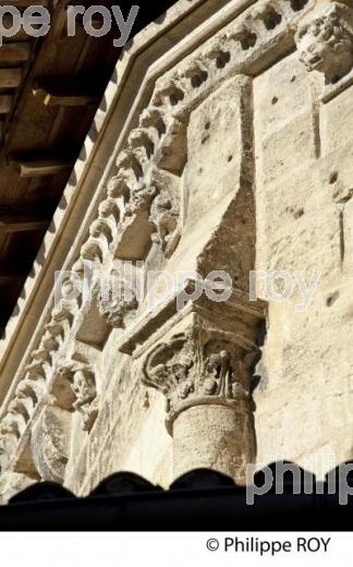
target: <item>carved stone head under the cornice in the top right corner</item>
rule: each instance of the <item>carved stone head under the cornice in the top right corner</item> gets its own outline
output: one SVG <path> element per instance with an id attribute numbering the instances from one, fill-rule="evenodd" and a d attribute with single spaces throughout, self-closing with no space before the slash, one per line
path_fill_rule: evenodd
<path id="1" fill-rule="evenodd" d="M 336 83 L 353 67 L 353 27 L 351 10 L 338 3 L 303 24 L 296 33 L 300 60 L 307 71 L 325 74 L 326 83 Z"/>

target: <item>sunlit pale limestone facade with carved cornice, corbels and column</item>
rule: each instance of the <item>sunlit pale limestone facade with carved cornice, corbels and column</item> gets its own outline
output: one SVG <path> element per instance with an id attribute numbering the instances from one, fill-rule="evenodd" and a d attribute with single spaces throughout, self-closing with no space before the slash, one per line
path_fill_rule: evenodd
<path id="1" fill-rule="evenodd" d="M 351 459 L 353 5 L 181 0 L 117 75 L 76 182 L 85 220 L 75 196 L 47 303 L 3 345 L 3 502 L 40 479 L 84 495 L 121 470 L 244 483 L 249 462 Z M 196 292 L 216 270 L 222 300 Z M 299 309 L 299 286 L 283 301 L 258 279 L 254 299 L 254 270 L 315 293 Z"/>

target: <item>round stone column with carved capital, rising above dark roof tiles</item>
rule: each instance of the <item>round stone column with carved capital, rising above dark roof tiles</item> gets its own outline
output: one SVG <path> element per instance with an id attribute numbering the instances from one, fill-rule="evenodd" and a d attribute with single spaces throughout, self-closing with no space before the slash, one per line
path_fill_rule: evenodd
<path id="1" fill-rule="evenodd" d="M 206 467 L 244 482 L 254 462 L 251 381 L 260 318 L 242 306 L 185 307 L 134 354 L 143 357 L 143 383 L 167 399 L 174 478 Z"/>

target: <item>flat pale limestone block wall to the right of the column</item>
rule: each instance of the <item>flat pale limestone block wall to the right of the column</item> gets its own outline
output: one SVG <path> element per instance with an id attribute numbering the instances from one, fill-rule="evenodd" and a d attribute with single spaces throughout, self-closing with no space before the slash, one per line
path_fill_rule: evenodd
<path id="1" fill-rule="evenodd" d="M 314 75 L 293 53 L 254 81 L 257 269 L 317 281 L 269 302 L 255 415 L 259 461 L 320 473 L 352 458 L 352 86 L 322 104 Z"/>

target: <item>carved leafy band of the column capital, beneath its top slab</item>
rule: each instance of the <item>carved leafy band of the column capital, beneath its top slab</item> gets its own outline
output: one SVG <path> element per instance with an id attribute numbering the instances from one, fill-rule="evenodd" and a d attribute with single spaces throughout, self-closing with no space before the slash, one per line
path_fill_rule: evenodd
<path id="1" fill-rule="evenodd" d="M 194 406 L 217 405 L 251 411 L 248 366 L 257 349 L 246 352 L 220 330 L 186 331 L 159 343 L 146 358 L 143 382 L 167 398 L 167 429 Z"/>

